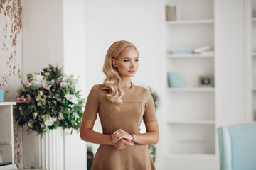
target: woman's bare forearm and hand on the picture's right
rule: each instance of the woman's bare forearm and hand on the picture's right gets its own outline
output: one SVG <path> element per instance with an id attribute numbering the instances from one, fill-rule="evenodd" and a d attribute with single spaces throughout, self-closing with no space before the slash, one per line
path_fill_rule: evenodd
<path id="1" fill-rule="evenodd" d="M 159 142 L 159 127 L 157 121 L 152 121 L 149 123 L 145 123 L 146 125 L 146 133 L 143 134 L 132 134 L 134 136 L 134 142 L 137 144 L 148 145 L 148 144 L 156 144 Z M 112 134 L 113 142 L 117 142 L 120 139 L 128 139 L 132 140 L 132 135 L 120 129 Z"/>

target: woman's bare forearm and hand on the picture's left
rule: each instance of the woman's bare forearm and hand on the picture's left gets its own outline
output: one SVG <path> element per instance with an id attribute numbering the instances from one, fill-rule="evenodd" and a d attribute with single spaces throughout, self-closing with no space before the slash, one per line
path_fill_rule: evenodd
<path id="1" fill-rule="evenodd" d="M 80 137 L 82 140 L 97 144 L 114 145 L 117 149 L 124 149 L 126 146 L 134 145 L 133 142 L 129 140 L 119 140 L 119 142 L 113 143 L 111 135 L 104 135 L 92 130 L 94 123 L 95 121 L 93 120 L 82 118 L 80 127 Z"/>

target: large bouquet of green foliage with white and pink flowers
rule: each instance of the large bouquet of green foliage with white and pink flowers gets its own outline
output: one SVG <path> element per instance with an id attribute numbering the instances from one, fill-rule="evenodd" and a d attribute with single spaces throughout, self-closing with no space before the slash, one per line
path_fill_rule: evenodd
<path id="1" fill-rule="evenodd" d="M 63 73 L 63 68 L 43 68 L 41 73 L 27 74 L 26 84 L 18 89 L 15 119 L 19 125 L 28 125 L 28 132 L 43 135 L 58 126 L 79 130 L 85 99 L 76 90 L 78 79 Z"/>

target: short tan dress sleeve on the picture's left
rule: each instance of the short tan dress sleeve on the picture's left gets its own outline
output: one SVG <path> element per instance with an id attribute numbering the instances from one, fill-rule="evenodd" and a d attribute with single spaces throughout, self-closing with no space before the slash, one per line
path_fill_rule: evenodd
<path id="1" fill-rule="evenodd" d="M 90 93 L 87 97 L 87 101 L 85 104 L 85 111 L 83 113 L 83 117 L 90 119 L 90 120 L 96 120 L 97 113 L 99 111 L 100 101 L 99 101 L 99 91 L 97 89 L 97 86 L 93 86 L 90 90 Z"/>

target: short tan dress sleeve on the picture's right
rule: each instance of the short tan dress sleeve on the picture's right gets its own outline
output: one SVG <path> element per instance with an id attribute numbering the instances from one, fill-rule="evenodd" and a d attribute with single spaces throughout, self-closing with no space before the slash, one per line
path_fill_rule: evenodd
<path id="1" fill-rule="evenodd" d="M 147 90 L 146 92 L 148 95 L 147 95 L 147 100 L 146 100 L 146 105 L 145 105 L 145 112 L 143 115 L 144 123 L 148 123 L 148 122 L 157 120 L 156 110 L 154 107 L 154 101 L 153 101 L 152 95 L 149 90 Z"/>

